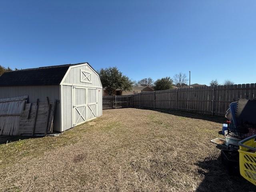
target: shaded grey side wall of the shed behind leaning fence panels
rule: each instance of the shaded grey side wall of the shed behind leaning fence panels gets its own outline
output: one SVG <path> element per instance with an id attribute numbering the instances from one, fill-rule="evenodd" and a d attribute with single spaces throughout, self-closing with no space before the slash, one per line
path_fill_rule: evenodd
<path id="1" fill-rule="evenodd" d="M 0 98 L 8 98 L 14 96 L 28 95 L 28 102 L 47 101 L 46 97 L 50 101 L 55 99 L 60 100 L 59 86 L 4 86 L 0 87 Z M 54 116 L 54 130 L 61 131 L 60 128 L 60 104 L 57 103 L 56 112 Z"/>

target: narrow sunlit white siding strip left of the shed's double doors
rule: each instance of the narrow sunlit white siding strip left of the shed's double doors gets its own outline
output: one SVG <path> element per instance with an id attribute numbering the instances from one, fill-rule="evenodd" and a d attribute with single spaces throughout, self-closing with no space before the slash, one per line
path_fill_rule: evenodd
<path id="1" fill-rule="evenodd" d="M 71 91 L 71 86 L 65 86 L 63 85 L 62 88 L 63 91 L 63 97 L 62 97 L 62 102 L 63 102 L 63 109 L 62 109 L 62 116 L 63 116 L 63 125 L 62 128 L 64 130 L 68 130 L 72 128 L 72 91 Z"/>

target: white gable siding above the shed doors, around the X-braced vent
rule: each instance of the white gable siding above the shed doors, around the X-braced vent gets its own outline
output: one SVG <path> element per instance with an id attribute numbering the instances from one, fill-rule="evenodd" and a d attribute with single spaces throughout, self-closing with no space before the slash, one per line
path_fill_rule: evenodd
<path id="1" fill-rule="evenodd" d="M 80 82 L 80 70 L 86 70 L 92 73 L 92 83 Z M 64 80 L 64 84 L 101 87 L 98 75 L 89 66 L 78 66 L 71 68 L 66 76 L 66 79 Z"/>

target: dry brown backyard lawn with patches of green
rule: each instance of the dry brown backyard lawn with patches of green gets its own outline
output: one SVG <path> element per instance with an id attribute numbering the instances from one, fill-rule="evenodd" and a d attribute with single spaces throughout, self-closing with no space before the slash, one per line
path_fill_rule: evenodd
<path id="1" fill-rule="evenodd" d="M 58 137 L 2 138 L 0 191 L 256 191 L 210 143 L 223 120 L 113 109 Z"/>

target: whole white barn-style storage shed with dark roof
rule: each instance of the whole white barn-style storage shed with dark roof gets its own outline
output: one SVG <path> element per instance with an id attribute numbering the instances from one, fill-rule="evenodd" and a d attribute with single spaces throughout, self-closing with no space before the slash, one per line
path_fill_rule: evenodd
<path id="1" fill-rule="evenodd" d="M 54 131 L 62 132 L 102 116 L 102 84 L 88 63 L 5 72 L 0 98 L 28 95 L 28 102 L 58 100 Z"/>

